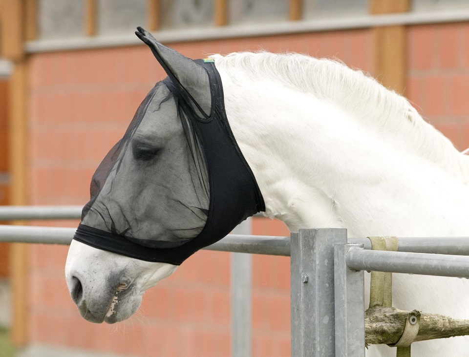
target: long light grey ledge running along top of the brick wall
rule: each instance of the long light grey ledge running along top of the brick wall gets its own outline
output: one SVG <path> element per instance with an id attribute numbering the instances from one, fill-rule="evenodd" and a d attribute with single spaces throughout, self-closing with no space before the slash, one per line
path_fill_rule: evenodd
<path id="1" fill-rule="evenodd" d="M 154 32 L 160 42 L 188 42 L 236 37 L 256 37 L 304 32 L 349 30 L 390 25 L 416 25 L 469 21 L 469 8 L 444 11 L 410 12 L 390 15 L 366 15 L 334 19 L 282 21 L 264 24 L 243 24 L 226 27 L 203 27 Z M 77 37 L 69 39 L 37 40 L 26 42 L 28 53 L 94 49 L 141 45 L 133 34 L 119 36 Z"/>

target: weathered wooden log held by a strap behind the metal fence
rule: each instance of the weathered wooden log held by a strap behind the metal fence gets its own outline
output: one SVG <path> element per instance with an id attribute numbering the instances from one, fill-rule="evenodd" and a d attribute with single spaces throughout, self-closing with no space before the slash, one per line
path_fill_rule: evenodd
<path id="1" fill-rule="evenodd" d="M 374 307 L 365 311 L 365 344 L 395 344 L 401 338 L 411 311 Z M 417 312 L 418 313 L 418 312 Z M 420 313 L 420 329 L 415 341 L 469 335 L 469 320 L 439 314 Z"/>

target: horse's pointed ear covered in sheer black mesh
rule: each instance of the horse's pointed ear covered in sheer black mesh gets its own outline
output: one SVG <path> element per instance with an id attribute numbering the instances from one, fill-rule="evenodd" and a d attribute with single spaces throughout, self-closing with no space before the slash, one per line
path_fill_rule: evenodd
<path id="1" fill-rule="evenodd" d="M 212 110 L 212 96 L 209 75 L 205 69 L 173 49 L 166 47 L 142 27 L 137 27 L 135 34 L 145 42 L 153 52 L 158 62 L 179 88 L 192 97 L 198 114 L 208 117 Z"/>

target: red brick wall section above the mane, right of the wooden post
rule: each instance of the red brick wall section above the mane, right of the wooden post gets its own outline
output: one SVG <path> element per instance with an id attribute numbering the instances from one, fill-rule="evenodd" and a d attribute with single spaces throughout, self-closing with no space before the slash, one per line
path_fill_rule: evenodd
<path id="1" fill-rule="evenodd" d="M 405 94 L 458 149 L 469 147 L 469 23 L 409 27 Z"/>

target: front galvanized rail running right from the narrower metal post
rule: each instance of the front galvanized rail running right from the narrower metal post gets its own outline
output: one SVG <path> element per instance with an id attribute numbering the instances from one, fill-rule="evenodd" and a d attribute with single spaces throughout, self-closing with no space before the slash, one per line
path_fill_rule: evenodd
<path id="1" fill-rule="evenodd" d="M 410 252 L 371 251 L 350 248 L 349 269 L 469 278 L 469 256 Z"/>

